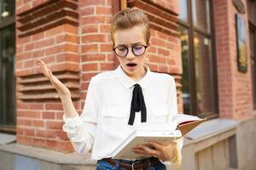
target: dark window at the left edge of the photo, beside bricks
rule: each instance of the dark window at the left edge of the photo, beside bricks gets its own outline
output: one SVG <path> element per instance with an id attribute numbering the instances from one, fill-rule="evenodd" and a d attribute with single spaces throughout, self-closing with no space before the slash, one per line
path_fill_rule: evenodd
<path id="1" fill-rule="evenodd" d="M 15 132 L 15 0 L 0 2 L 0 130 Z"/>

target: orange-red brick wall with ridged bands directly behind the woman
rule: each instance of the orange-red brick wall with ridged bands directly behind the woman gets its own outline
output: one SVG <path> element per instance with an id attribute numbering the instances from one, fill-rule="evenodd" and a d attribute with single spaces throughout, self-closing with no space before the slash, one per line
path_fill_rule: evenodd
<path id="1" fill-rule="evenodd" d="M 62 132 L 62 107 L 55 89 L 41 74 L 35 59 L 43 59 L 72 91 L 79 113 L 90 78 L 119 65 L 109 34 L 113 0 L 17 0 L 16 65 L 17 142 L 52 150 L 70 151 Z M 115 1 L 116 2 L 116 1 Z M 145 3 L 146 2 L 146 3 Z M 183 111 L 181 54 L 177 34 L 177 1 L 137 0 L 151 21 L 152 44 L 148 65 L 152 71 L 172 74 L 177 82 L 178 109 Z M 46 20 L 45 20 L 46 19 Z"/>

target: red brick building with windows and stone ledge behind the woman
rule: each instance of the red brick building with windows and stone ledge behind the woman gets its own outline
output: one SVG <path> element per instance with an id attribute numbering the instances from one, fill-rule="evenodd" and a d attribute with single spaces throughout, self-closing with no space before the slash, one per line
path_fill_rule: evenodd
<path id="1" fill-rule="evenodd" d="M 90 78 L 119 65 L 109 28 L 113 14 L 126 7 L 148 14 L 147 64 L 175 77 L 178 111 L 208 118 L 185 138 L 182 169 L 253 169 L 255 0 L 2 1 L 0 130 L 15 133 L 16 143 L 1 146 L 0 156 L 23 153 L 13 165 L 28 159 L 45 168 L 95 168 L 89 157 L 67 161 L 73 147 L 62 131 L 61 100 L 36 59 L 67 85 L 81 113 Z M 47 150 L 64 158 L 53 161 Z"/>

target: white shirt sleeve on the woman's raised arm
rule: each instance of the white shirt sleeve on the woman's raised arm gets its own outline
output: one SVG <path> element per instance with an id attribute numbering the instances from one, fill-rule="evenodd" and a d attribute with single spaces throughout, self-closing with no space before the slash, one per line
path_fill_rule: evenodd
<path id="1" fill-rule="evenodd" d="M 96 134 L 96 122 L 99 110 L 99 91 L 94 77 L 91 78 L 86 95 L 84 109 L 80 116 L 66 118 L 63 116 L 63 131 L 73 144 L 74 150 L 86 154 L 92 149 Z"/>

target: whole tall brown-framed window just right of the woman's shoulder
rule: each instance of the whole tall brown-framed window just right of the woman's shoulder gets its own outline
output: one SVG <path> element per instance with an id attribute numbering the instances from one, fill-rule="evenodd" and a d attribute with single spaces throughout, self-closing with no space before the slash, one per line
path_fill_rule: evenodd
<path id="1" fill-rule="evenodd" d="M 184 114 L 218 116 L 216 62 L 212 50 L 211 0 L 180 0 Z"/>

